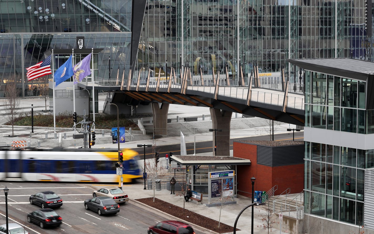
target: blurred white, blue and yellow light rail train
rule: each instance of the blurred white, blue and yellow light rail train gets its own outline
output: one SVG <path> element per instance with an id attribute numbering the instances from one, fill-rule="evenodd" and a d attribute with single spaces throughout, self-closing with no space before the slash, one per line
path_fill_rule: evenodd
<path id="1" fill-rule="evenodd" d="M 124 183 L 142 178 L 137 152 L 123 149 Z M 118 151 L 107 149 L 0 149 L 0 180 L 118 182 Z"/>

